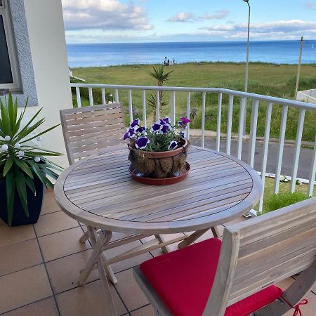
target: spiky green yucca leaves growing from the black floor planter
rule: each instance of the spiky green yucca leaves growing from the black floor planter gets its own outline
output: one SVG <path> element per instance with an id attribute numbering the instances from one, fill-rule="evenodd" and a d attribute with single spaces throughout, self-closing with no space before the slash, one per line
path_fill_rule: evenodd
<path id="1" fill-rule="evenodd" d="M 55 171 L 60 171 L 60 166 L 50 162 L 45 157 L 60 156 L 59 152 L 44 150 L 34 145 L 28 145 L 30 140 L 37 138 L 58 125 L 45 131 L 36 133 L 37 128 L 44 123 L 44 119 L 35 121 L 39 116 L 40 109 L 29 119 L 27 124 L 21 126 L 22 119 L 27 108 L 27 102 L 18 115 L 18 100 L 13 100 L 11 93 L 8 99 L 0 100 L 0 180 L 6 181 L 6 199 L 8 211 L 8 224 L 11 225 L 16 194 L 20 199 L 20 204 L 29 217 L 29 207 L 27 205 L 27 187 L 36 195 L 34 179 L 38 178 L 46 187 L 53 187 L 53 183 L 46 176 L 53 179 L 58 178 Z M 34 132 L 34 135 L 31 133 Z M 55 171 L 54 171 L 55 170 Z"/>

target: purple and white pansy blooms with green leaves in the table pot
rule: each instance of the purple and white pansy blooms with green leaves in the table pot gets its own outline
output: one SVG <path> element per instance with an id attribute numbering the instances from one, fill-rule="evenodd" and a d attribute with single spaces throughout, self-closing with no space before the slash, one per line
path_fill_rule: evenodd
<path id="1" fill-rule="evenodd" d="M 188 123 L 190 119 L 181 117 L 178 124 L 172 126 L 169 117 L 165 117 L 145 129 L 140 125 L 140 119 L 135 119 L 124 134 L 124 140 L 130 139 L 136 149 L 148 152 L 176 150 L 183 145 L 180 140 L 185 139 Z"/>

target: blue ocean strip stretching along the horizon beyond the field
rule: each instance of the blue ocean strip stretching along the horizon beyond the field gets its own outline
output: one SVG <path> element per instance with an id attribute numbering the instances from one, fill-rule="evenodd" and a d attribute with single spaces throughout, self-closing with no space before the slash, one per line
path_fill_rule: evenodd
<path id="1" fill-rule="evenodd" d="M 250 61 L 298 62 L 300 41 L 251 41 Z M 70 67 L 183 62 L 244 62 L 246 41 L 185 43 L 67 44 Z M 316 63 L 316 40 L 304 41 L 302 63 Z"/>

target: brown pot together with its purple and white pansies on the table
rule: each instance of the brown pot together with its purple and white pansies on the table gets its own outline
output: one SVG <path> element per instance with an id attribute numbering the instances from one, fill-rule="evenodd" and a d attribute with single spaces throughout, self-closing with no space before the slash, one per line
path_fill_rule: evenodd
<path id="1" fill-rule="evenodd" d="M 129 139 L 129 160 L 133 170 L 145 178 L 172 178 L 187 172 L 185 129 L 190 119 L 181 117 L 171 125 L 169 117 L 159 119 L 147 129 L 140 119 L 131 122 L 124 140 Z"/>

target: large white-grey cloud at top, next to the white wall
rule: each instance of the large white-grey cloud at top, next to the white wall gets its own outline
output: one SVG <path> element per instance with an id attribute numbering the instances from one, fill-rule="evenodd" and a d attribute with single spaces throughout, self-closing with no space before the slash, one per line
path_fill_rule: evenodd
<path id="1" fill-rule="evenodd" d="M 62 0 L 65 29 L 152 29 L 143 6 L 120 0 Z"/>

